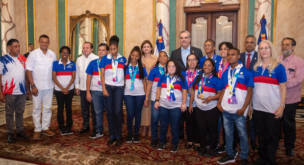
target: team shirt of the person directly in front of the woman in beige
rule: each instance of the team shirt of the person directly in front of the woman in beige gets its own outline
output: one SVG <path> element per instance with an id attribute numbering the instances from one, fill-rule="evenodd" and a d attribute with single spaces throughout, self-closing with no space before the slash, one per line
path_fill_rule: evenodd
<path id="1" fill-rule="evenodd" d="M 164 73 L 165 69 L 162 68 Z M 156 65 L 149 73 L 148 80 L 150 80 L 152 83 L 152 88 L 151 88 L 151 100 L 154 101 L 156 99 L 156 90 L 157 90 L 157 83 L 159 78 L 161 77 L 160 71 L 158 69 L 158 66 Z"/>

